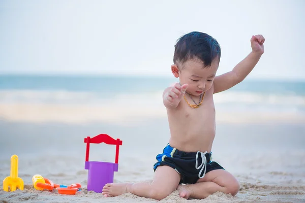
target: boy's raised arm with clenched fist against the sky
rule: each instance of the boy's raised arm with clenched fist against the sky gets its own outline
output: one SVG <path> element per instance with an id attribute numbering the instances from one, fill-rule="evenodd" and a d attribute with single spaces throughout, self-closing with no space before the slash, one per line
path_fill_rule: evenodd
<path id="1" fill-rule="evenodd" d="M 250 74 L 261 55 L 264 53 L 264 42 L 265 39 L 262 35 L 252 36 L 252 52 L 245 59 L 240 61 L 232 71 L 215 77 L 214 93 L 230 89 L 243 81 L 243 79 Z"/>

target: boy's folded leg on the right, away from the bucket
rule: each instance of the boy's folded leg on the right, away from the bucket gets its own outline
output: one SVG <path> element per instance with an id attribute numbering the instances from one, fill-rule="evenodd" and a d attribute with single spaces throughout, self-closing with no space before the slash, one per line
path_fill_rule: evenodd
<path id="1" fill-rule="evenodd" d="M 239 183 L 229 172 L 219 169 L 208 172 L 195 184 L 178 185 L 177 190 L 186 199 L 203 199 L 217 191 L 234 196 L 239 191 Z"/>

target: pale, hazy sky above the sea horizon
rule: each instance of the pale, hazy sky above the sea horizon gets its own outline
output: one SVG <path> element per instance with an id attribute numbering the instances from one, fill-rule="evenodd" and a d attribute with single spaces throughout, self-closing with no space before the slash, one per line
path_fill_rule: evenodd
<path id="1" fill-rule="evenodd" d="M 265 53 L 250 78 L 305 80 L 305 1 L 0 1 L 0 74 L 172 76 L 176 40 L 206 32 L 218 75 Z"/>

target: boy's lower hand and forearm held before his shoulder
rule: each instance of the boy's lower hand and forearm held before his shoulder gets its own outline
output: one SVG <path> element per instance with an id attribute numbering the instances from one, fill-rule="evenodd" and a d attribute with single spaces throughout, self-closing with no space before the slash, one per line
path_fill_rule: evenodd
<path id="1" fill-rule="evenodd" d="M 188 87 L 188 84 L 180 86 L 179 83 L 172 86 L 163 97 L 165 106 L 168 104 L 170 107 L 177 107 Z"/>

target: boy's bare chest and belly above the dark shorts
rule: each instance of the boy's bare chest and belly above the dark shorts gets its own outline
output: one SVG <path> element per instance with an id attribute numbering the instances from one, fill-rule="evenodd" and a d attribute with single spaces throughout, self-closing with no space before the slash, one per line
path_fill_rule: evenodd
<path id="1" fill-rule="evenodd" d="M 182 151 L 211 150 L 215 138 L 215 106 L 212 95 L 199 108 L 192 108 L 182 98 L 178 107 L 168 110 L 170 144 Z"/>

